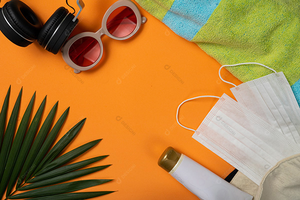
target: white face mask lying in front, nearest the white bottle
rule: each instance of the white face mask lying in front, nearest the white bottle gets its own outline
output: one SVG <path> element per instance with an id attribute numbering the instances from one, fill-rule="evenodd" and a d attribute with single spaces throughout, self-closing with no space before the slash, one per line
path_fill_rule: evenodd
<path id="1" fill-rule="evenodd" d="M 198 96 L 217 97 L 217 96 Z M 191 99 L 194 99 L 191 98 Z M 203 119 L 193 138 L 259 184 L 279 160 L 300 152 L 300 147 L 275 127 L 223 94 Z"/>

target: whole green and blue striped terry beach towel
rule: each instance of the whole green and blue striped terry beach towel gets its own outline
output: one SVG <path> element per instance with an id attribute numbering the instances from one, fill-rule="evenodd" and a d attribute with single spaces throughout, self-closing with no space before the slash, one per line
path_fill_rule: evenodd
<path id="1" fill-rule="evenodd" d="M 259 62 L 283 71 L 300 103 L 298 0 L 136 1 L 222 65 Z M 271 73 L 257 65 L 227 70 L 243 82 Z"/>

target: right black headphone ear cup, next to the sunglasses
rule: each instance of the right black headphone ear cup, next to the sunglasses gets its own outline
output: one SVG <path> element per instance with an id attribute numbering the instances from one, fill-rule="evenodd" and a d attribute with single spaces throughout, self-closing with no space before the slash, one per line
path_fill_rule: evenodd
<path id="1" fill-rule="evenodd" d="M 78 19 L 72 21 L 73 18 L 74 15 L 66 8 L 59 7 L 39 32 L 38 43 L 49 52 L 56 54 L 78 23 Z"/>

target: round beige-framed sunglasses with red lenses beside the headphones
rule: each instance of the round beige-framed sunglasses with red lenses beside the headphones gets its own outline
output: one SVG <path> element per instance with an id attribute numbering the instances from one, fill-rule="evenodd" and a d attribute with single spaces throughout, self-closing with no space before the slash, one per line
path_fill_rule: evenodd
<path id="1" fill-rule="evenodd" d="M 101 59 L 103 34 L 123 40 L 131 37 L 146 22 L 137 6 L 130 0 L 118 0 L 105 12 L 102 27 L 96 32 L 82 32 L 71 37 L 61 48 L 64 61 L 74 69 L 74 73 L 95 66 Z"/>

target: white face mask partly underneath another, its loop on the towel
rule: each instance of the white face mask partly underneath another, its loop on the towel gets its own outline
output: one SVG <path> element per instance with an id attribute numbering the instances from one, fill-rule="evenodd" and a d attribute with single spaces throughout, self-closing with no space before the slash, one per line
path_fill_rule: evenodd
<path id="1" fill-rule="evenodd" d="M 234 66 L 241 64 L 234 64 Z M 300 107 L 283 72 L 276 72 L 260 63 L 255 64 L 264 66 L 275 73 L 244 82 L 238 86 L 223 80 L 220 76 L 222 67 L 233 65 L 221 66 L 219 76 L 224 82 L 235 86 L 231 88 L 231 91 L 237 102 L 300 144 Z"/>

